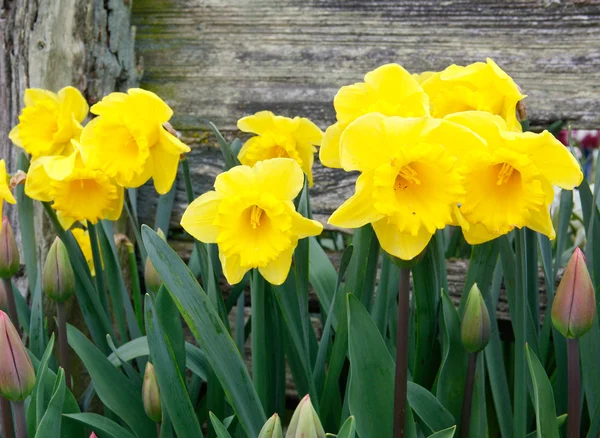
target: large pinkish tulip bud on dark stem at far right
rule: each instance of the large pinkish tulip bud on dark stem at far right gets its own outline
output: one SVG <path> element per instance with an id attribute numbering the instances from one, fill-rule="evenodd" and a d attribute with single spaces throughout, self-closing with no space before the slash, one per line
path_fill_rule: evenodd
<path id="1" fill-rule="evenodd" d="M 585 256 L 576 248 L 552 303 L 552 323 L 566 338 L 579 338 L 592 328 L 596 316 L 594 285 Z"/>

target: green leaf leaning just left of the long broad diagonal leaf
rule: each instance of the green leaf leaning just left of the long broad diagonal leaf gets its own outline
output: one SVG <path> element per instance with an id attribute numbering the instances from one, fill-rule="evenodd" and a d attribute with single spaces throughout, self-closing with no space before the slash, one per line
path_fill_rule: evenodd
<path id="1" fill-rule="evenodd" d="M 152 251 L 148 247 L 148 251 Z M 175 432 L 181 437 L 202 437 L 194 407 L 185 386 L 184 376 L 177 364 L 171 342 L 158 318 L 154 303 L 146 295 L 146 333 L 152 363 L 156 370 L 163 409 L 169 412 Z"/>

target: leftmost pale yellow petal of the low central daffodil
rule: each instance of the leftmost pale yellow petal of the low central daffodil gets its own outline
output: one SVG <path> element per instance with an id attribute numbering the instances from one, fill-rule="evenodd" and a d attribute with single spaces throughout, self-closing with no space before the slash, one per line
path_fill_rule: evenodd
<path id="1" fill-rule="evenodd" d="M 196 198 L 183 213 L 181 226 L 201 242 L 215 243 L 219 229 L 214 225 L 221 197 L 215 191 Z"/>

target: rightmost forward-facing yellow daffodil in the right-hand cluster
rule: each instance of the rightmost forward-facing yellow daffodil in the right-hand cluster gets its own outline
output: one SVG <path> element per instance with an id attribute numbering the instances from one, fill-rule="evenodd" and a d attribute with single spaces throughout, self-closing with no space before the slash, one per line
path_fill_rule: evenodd
<path id="1" fill-rule="evenodd" d="M 482 243 L 515 227 L 553 239 L 552 186 L 572 190 L 583 178 L 567 148 L 548 131 L 510 131 L 504 119 L 486 112 L 457 113 L 446 120 L 471 129 L 487 143 L 464 149 L 459 157 L 466 193 L 455 215 L 467 241 Z"/>

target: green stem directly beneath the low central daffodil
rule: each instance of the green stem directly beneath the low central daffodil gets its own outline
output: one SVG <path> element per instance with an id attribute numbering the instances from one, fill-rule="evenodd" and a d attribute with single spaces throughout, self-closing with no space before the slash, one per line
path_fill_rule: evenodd
<path id="1" fill-rule="evenodd" d="M 253 270 L 252 284 L 250 285 L 252 300 L 252 380 L 264 409 L 267 408 L 268 403 L 265 289 L 265 280 L 258 270 Z"/>

